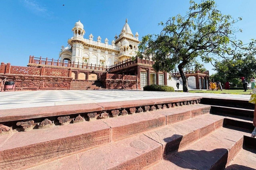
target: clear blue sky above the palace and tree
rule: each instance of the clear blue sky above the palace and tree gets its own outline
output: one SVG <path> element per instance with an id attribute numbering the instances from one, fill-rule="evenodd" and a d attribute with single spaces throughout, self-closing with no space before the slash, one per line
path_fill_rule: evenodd
<path id="1" fill-rule="evenodd" d="M 199 2 L 199 0 L 196 0 Z M 255 0 L 216 0 L 223 14 L 243 17 L 236 24 L 243 29 L 238 39 L 256 38 Z M 65 4 L 65 6 L 62 6 Z M 58 58 L 62 45 L 72 37 L 78 19 L 84 25 L 85 38 L 92 33 L 109 42 L 119 34 L 125 19 L 135 34 L 159 34 L 160 21 L 184 15 L 189 0 L 0 0 L 0 62 L 26 66 L 29 55 Z M 205 64 L 210 73 L 210 64 Z"/>

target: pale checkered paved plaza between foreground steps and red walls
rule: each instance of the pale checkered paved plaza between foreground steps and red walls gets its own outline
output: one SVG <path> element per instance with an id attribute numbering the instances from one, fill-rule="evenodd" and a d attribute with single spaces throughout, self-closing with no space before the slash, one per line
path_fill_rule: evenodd
<path id="1" fill-rule="evenodd" d="M 249 100 L 250 95 L 154 92 L 134 90 L 44 90 L 0 93 L 0 109 L 99 103 L 171 97 L 218 97 Z"/>

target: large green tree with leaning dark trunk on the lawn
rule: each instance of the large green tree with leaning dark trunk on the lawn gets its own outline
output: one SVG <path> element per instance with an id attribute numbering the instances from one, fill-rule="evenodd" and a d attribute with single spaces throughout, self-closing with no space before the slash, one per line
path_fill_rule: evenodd
<path id="1" fill-rule="evenodd" d="M 137 56 L 152 58 L 156 71 L 174 71 L 176 66 L 183 81 L 183 91 L 188 92 L 184 68 L 197 62 L 215 61 L 216 57 L 227 59 L 237 48 L 242 48 L 241 41 L 236 41 L 236 29 L 233 24 L 241 18 L 233 19 L 216 9 L 213 0 L 200 4 L 190 1 L 189 11 L 185 16 L 178 14 L 169 18 L 159 35 L 142 37 Z M 251 43 L 254 45 L 254 42 Z"/>

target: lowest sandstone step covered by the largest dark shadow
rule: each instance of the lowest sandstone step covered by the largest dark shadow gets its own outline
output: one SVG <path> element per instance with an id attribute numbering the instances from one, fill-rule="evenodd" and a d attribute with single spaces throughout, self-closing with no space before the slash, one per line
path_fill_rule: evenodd
<path id="1" fill-rule="evenodd" d="M 221 170 L 242 149 L 243 135 L 250 133 L 219 128 L 197 142 L 169 155 L 148 170 Z"/>

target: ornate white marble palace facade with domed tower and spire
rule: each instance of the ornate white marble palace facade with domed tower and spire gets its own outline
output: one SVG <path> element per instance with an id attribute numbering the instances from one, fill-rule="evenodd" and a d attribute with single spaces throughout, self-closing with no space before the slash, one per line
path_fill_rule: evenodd
<path id="1" fill-rule="evenodd" d="M 75 23 L 72 32 L 73 37 L 68 40 L 68 46 L 61 48 L 60 60 L 110 66 L 135 57 L 139 44 L 139 35 L 137 32 L 135 36 L 132 34 L 127 19 L 120 35 L 116 35 L 110 44 L 107 38 L 101 42 L 100 36 L 94 41 L 92 34 L 89 35 L 89 39 L 85 39 L 84 26 L 80 20 Z"/>

